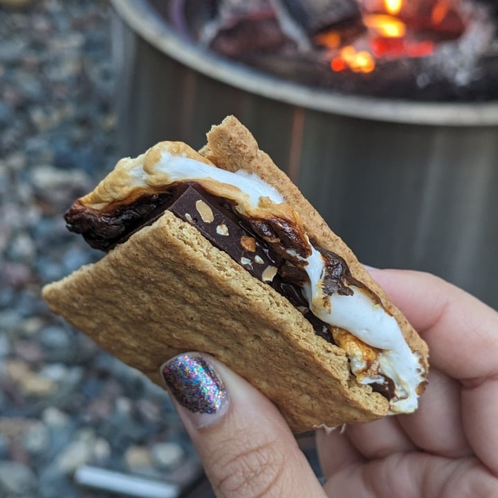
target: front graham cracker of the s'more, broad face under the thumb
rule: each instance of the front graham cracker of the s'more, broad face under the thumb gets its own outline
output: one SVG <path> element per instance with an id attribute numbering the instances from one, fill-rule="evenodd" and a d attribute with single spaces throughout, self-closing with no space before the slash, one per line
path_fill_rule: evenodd
<path id="1" fill-rule="evenodd" d="M 367 422 L 389 403 L 291 303 L 170 212 L 43 290 L 55 313 L 162 385 L 160 365 L 210 353 L 273 400 L 294 432 Z"/>

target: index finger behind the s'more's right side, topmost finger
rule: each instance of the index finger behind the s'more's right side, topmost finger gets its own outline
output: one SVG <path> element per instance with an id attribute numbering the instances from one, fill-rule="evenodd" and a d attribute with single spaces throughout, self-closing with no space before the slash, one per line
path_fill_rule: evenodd
<path id="1" fill-rule="evenodd" d="M 429 345 L 430 364 L 459 380 L 498 376 L 498 313 L 439 277 L 369 268 Z"/>

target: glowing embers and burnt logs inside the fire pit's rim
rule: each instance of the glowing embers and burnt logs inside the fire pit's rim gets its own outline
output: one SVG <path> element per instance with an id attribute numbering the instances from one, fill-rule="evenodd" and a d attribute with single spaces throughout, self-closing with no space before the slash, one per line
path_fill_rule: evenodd
<path id="1" fill-rule="evenodd" d="M 349 95 L 498 98 L 494 0 L 152 0 L 176 33 Z"/>

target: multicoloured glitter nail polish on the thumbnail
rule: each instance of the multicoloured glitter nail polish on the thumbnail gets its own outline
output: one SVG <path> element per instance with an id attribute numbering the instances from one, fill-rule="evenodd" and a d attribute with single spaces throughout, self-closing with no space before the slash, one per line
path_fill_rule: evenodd
<path id="1" fill-rule="evenodd" d="M 161 368 L 169 390 L 185 408 L 198 414 L 216 414 L 227 394 L 223 382 L 201 356 L 181 354 Z"/>

